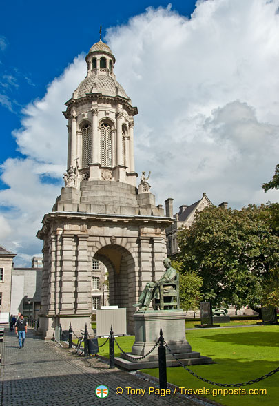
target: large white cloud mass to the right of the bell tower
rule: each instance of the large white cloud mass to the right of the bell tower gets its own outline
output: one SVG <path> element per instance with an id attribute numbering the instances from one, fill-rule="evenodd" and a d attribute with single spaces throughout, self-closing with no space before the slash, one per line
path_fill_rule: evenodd
<path id="1" fill-rule="evenodd" d="M 278 4 L 199 1 L 191 19 L 149 8 L 109 30 L 139 111 L 136 168 L 152 171 L 160 202 L 278 200 L 260 187 L 278 163 Z"/>

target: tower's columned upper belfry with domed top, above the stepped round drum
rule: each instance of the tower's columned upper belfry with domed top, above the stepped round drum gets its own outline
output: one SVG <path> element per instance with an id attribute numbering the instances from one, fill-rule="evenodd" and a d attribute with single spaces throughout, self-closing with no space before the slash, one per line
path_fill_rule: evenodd
<path id="1" fill-rule="evenodd" d="M 115 57 L 101 38 L 85 61 L 87 77 L 64 112 L 69 129 L 68 168 L 78 168 L 78 183 L 114 180 L 136 186 L 133 117 L 138 110 L 116 81 Z"/>

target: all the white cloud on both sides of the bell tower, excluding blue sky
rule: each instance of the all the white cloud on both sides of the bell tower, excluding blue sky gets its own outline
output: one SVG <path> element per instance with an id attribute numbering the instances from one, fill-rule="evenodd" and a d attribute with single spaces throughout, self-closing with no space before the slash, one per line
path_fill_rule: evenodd
<path id="1" fill-rule="evenodd" d="M 136 169 L 152 171 L 157 204 L 174 197 L 177 209 L 204 191 L 215 204 L 237 208 L 278 201 L 278 191 L 261 189 L 278 164 L 278 5 L 198 1 L 191 19 L 170 7 L 149 8 L 108 30 L 116 78 L 139 110 Z M 0 204 L 12 207 L 2 213 L 12 230 L 2 242 L 18 247 L 21 260 L 39 251 L 34 235 L 59 194 L 41 175 L 59 180 L 65 169 L 61 110 L 85 77 L 83 57 L 25 108 L 13 134 L 27 158 L 2 167 L 10 189 L 0 191 Z"/>

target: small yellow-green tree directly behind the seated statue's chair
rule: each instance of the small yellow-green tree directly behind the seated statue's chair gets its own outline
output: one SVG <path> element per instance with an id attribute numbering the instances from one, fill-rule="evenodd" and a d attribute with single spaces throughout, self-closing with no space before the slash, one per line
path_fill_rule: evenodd
<path id="1" fill-rule="evenodd" d="M 200 288 L 203 285 L 203 278 L 198 276 L 195 271 L 185 271 L 183 273 L 180 262 L 172 261 L 172 267 L 174 267 L 180 273 L 180 308 L 186 311 L 197 310 L 200 307 L 200 300 L 202 298 Z"/>

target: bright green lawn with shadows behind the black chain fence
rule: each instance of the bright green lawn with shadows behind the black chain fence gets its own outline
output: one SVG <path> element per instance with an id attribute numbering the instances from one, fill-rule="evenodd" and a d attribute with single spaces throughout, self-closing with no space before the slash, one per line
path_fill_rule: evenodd
<path id="1" fill-rule="evenodd" d="M 250 320 L 247 320 L 250 321 Z M 243 323 L 243 322 L 242 322 Z M 190 369 L 220 383 L 242 383 L 258 378 L 279 366 L 279 326 L 239 327 L 235 329 L 197 329 L 187 331 L 187 340 L 194 351 L 210 356 L 216 364 L 194 365 Z M 124 351 L 131 351 L 134 336 L 117 337 Z M 99 338 L 99 345 L 105 338 Z M 100 348 L 99 354 L 109 356 L 108 342 Z M 115 356 L 120 351 L 115 345 Z M 145 373 L 158 377 L 158 369 L 145 369 Z M 167 380 L 178 387 L 190 389 L 212 388 L 194 378 L 182 367 L 167 369 Z M 242 389 L 267 389 L 267 395 L 207 396 L 222 405 L 257 406 L 278 404 L 279 372 L 260 383 Z"/>

